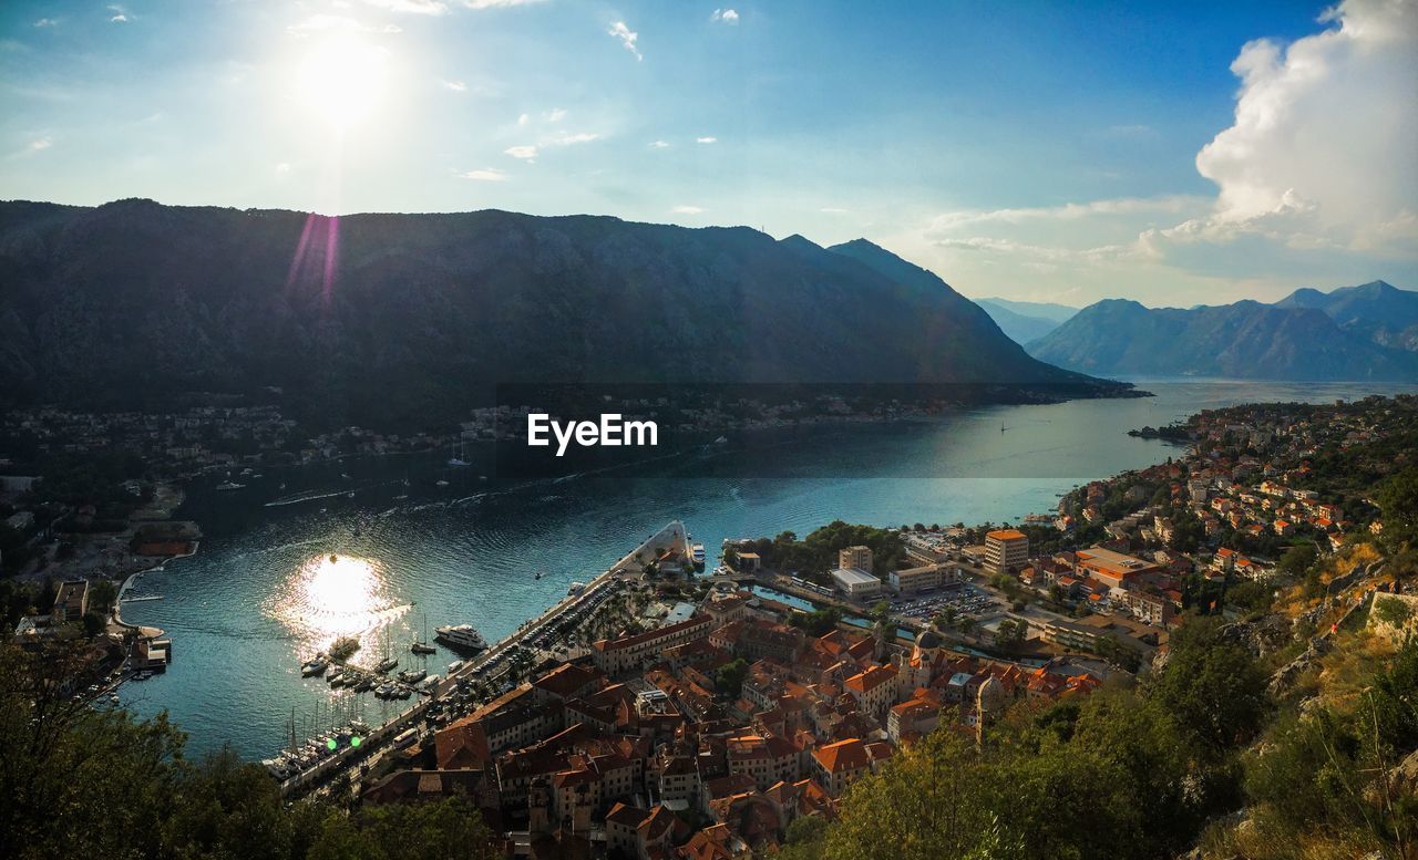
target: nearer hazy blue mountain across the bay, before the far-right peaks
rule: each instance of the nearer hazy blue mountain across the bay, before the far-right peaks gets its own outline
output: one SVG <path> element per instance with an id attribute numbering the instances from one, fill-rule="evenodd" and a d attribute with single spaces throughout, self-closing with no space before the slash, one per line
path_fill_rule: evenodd
<path id="1" fill-rule="evenodd" d="M 1181 310 L 1107 299 L 1028 349 L 1098 374 L 1418 380 L 1418 356 L 1343 332 L 1323 310 L 1249 300 Z"/>

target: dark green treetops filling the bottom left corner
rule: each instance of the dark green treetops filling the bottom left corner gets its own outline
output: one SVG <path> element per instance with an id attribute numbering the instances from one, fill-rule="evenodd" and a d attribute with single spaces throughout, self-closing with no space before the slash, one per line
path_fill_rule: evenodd
<path id="1" fill-rule="evenodd" d="M 81 655 L 37 664 L 0 646 L 0 857 L 484 860 L 501 856 L 476 809 L 284 805 L 259 765 L 184 755 L 159 717 L 135 723 L 61 691 Z"/>

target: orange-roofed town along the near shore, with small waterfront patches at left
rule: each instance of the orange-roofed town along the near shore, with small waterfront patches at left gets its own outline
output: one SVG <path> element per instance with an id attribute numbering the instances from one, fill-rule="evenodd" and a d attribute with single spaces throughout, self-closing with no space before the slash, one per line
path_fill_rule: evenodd
<path id="1" fill-rule="evenodd" d="M 292 737 L 272 774 L 288 799 L 465 796 L 509 856 L 754 856 L 834 820 L 849 786 L 927 735 L 983 745 L 1011 714 L 1146 676 L 1178 625 L 1239 618 L 1316 555 L 1381 534 L 1356 487 L 1383 463 L 1347 455 L 1381 452 L 1415 409 L 1202 412 L 1174 432 L 1176 458 L 1078 487 L 1048 516 L 729 540 L 708 575 L 672 523 L 396 721 L 303 751 Z M 1346 585 L 1320 587 L 1333 599 L 1316 619 L 1349 611 Z M 109 660 L 126 643 L 109 677 L 169 659 L 170 642 L 115 628 L 116 601 L 96 591 L 62 582 L 16 642 L 106 636 Z M 112 612 L 85 629 L 94 602 Z M 77 700 L 99 672 L 75 670 Z M 109 707 L 108 686 L 88 696 Z"/>

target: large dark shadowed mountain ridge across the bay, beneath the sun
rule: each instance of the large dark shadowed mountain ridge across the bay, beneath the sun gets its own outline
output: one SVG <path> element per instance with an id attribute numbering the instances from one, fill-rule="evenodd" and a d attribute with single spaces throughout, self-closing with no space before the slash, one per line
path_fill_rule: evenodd
<path id="1" fill-rule="evenodd" d="M 871 245 L 503 211 L 0 203 L 0 400 L 279 388 L 333 425 L 515 381 L 1010 383 L 1044 364 Z"/>

